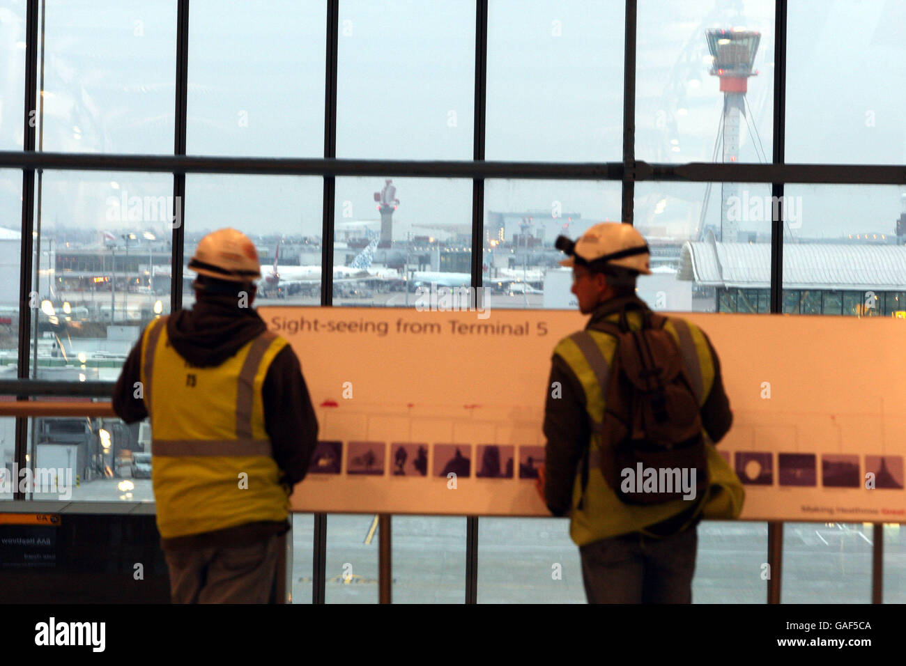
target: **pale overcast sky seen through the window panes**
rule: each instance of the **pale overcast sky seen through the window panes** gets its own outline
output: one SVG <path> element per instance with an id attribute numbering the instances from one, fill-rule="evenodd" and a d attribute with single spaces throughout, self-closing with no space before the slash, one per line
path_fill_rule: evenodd
<path id="1" fill-rule="evenodd" d="M 323 155 L 321 0 L 193 0 L 189 34 L 190 154 Z M 475 71 L 472 0 L 342 0 L 337 154 L 366 159 L 471 159 Z M 176 2 L 48 0 L 44 150 L 173 150 Z M 773 0 L 640 0 L 636 154 L 710 161 L 722 107 L 708 75 L 705 30 L 761 33 L 749 79 L 741 161 L 770 159 Z M 786 159 L 906 162 L 906 0 L 790 3 Z M 622 159 L 623 3 L 491 0 L 487 159 Z M 24 2 L 0 0 L 0 149 L 22 147 Z M 760 139 L 753 140 L 757 132 Z M 678 150 L 674 150 L 678 149 Z M 398 238 L 468 224 L 467 179 L 394 179 Z M 48 172 L 43 224 L 161 227 L 111 220 L 109 198 L 166 196 L 167 175 Z M 338 221 L 378 219 L 380 178 L 338 179 Z M 711 188 L 708 220 L 719 215 Z M 765 185 L 743 187 L 750 198 Z M 636 221 L 691 237 L 704 184 L 639 183 Z M 21 178 L 0 171 L 0 224 L 18 227 Z M 790 186 L 800 236 L 891 232 L 903 188 Z M 190 176 L 189 230 L 232 225 L 320 235 L 318 178 Z M 488 181 L 486 207 L 619 219 L 617 182 Z M 769 211 L 768 211 L 769 215 Z M 763 230 L 769 217 L 740 227 Z"/>

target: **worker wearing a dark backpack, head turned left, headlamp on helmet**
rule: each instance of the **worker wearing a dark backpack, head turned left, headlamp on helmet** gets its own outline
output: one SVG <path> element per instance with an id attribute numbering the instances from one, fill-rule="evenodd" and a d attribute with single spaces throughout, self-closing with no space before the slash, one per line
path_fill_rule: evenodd
<path id="1" fill-rule="evenodd" d="M 572 292 L 579 310 L 591 318 L 583 331 L 564 338 L 554 348 L 545 402 L 545 465 L 539 470 L 536 486 L 551 513 L 570 516 L 570 536 L 579 546 L 589 603 L 690 603 L 699 520 L 702 516 L 737 517 L 743 501 L 739 479 L 714 448 L 733 418 L 718 355 L 695 324 L 679 317 L 661 318 L 636 295 L 637 276 L 651 275 L 651 269 L 648 244 L 634 227 L 602 223 L 589 228 L 575 243 L 561 236 L 556 246 L 569 255 L 560 263 L 573 269 Z M 658 322 L 657 330 L 652 321 Z M 634 385 L 622 381 L 627 376 L 623 369 L 636 358 L 646 358 L 633 355 L 637 348 L 649 347 L 651 356 L 651 345 L 634 342 L 644 336 L 639 333 L 643 323 L 647 331 L 660 336 L 660 359 L 668 361 L 657 369 L 672 365 L 674 377 L 688 378 L 680 387 L 686 391 L 688 409 L 671 410 L 669 418 L 660 419 L 662 426 L 670 428 L 678 420 L 677 414 L 688 415 L 693 436 L 684 441 L 694 439 L 699 451 L 699 469 L 674 468 L 678 482 L 689 469 L 701 472 L 700 488 L 690 486 L 679 498 L 641 497 L 643 491 L 661 490 L 656 479 L 651 487 L 642 487 L 641 473 L 647 475 L 647 470 L 641 465 L 617 470 L 621 483 L 613 480 L 615 475 L 611 480 L 606 476 L 607 466 L 615 467 L 614 459 L 625 460 L 636 453 L 632 447 L 651 450 L 637 444 L 649 440 L 633 439 L 641 430 L 634 424 L 642 421 L 628 412 L 634 404 L 637 411 L 633 416 L 638 413 L 641 402 Z M 627 362 L 623 361 L 624 351 Z M 612 380 L 612 368 L 617 369 L 621 381 Z M 651 370 L 642 368 L 639 375 L 651 377 Z M 663 396 L 662 385 L 660 390 Z M 653 394 L 638 395 L 648 400 Z M 605 405 L 608 398 L 612 404 Z M 614 403 L 627 413 L 615 414 Z M 605 430 L 612 423 L 622 428 L 619 444 Z M 638 487 L 634 485 L 636 472 Z M 630 483 L 623 486 L 627 481 Z M 636 491 L 639 499 L 630 502 L 628 493 Z"/>

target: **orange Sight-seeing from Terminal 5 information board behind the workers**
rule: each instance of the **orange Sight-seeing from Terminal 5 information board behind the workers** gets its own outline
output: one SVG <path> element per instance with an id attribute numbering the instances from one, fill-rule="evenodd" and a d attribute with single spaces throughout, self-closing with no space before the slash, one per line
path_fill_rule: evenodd
<path id="1" fill-rule="evenodd" d="M 261 307 L 292 343 L 321 440 L 296 511 L 545 516 L 534 478 L 551 352 L 574 312 Z M 906 522 L 906 323 L 684 314 L 718 350 L 719 443 L 742 517 Z"/>

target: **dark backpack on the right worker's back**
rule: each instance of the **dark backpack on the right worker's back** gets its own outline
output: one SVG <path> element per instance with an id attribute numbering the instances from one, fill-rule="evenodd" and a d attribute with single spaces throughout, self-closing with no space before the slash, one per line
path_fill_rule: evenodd
<path id="1" fill-rule="evenodd" d="M 641 314 L 639 331 L 631 331 L 625 310 L 619 324 L 592 327 L 616 339 L 608 386 L 602 387 L 599 466 L 625 504 L 702 500 L 708 454 L 699 401 L 679 347 L 663 328 L 667 318 L 647 309 Z"/>

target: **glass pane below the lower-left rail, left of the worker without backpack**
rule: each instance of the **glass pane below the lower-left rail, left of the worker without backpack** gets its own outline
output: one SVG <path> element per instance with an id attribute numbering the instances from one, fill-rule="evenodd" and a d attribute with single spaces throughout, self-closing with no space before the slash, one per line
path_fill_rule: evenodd
<path id="1" fill-rule="evenodd" d="M 90 399 L 86 399 L 86 402 Z M 33 419 L 26 465 L 31 499 L 151 502 L 151 433 L 147 421 Z M 20 489 L 24 470 L 18 470 Z"/>

